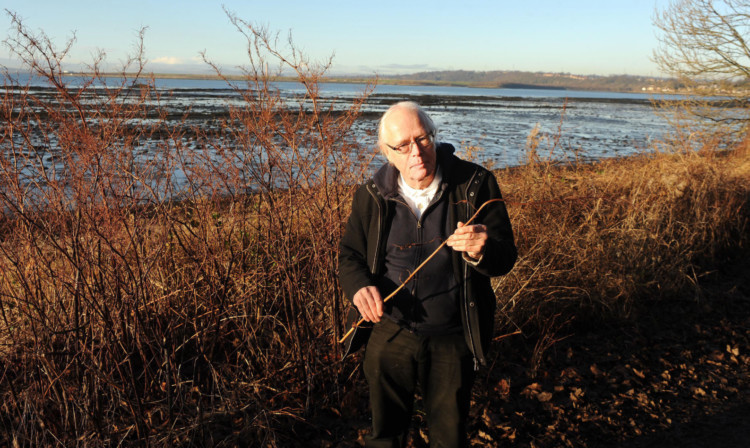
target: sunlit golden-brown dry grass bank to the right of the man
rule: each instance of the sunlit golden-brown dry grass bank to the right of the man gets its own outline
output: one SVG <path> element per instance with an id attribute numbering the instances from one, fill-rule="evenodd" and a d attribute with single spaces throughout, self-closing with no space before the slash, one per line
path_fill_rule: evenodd
<path id="1" fill-rule="evenodd" d="M 520 252 L 496 283 L 501 325 L 554 340 L 571 318 L 699 298 L 701 279 L 747 253 L 749 167 L 743 142 L 499 171 Z"/>

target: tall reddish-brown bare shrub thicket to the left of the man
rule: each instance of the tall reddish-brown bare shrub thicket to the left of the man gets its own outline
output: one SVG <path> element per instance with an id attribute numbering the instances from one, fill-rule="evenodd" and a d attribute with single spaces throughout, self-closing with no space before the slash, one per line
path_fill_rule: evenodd
<path id="1" fill-rule="evenodd" d="M 371 157 L 351 132 L 368 90 L 337 108 L 326 64 L 230 15 L 244 101 L 190 129 L 141 76 L 142 45 L 119 78 L 99 56 L 71 85 L 73 41 L 11 18 L 6 43 L 49 87 L 2 93 L 0 440 L 287 445 L 351 373 L 335 251 Z M 281 70 L 304 92 L 282 95 Z"/>

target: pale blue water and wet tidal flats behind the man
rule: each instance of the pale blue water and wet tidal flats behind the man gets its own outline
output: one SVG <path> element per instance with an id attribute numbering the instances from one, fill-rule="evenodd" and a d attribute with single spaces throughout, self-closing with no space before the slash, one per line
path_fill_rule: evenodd
<path id="1" fill-rule="evenodd" d="M 66 78 L 75 85 L 75 78 Z M 115 83 L 114 80 L 112 80 Z M 32 81 L 32 85 L 38 84 Z M 240 85 L 240 83 L 237 83 Z M 274 84 L 294 99 L 303 94 L 297 83 Z M 220 80 L 157 79 L 169 91 L 166 106 L 176 114 L 190 108 L 191 124 L 210 123 L 240 104 Z M 362 94 L 360 84 L 321 84 L 321 96 L 334 107 L 345 107 Z M 377 118 L 390 104 L 413 99 L 422 104 L 439 128 L 439 139 L 463 147 L 481 147 L 478 158 L 495 167 L 524 160 L 527 138 L 538 128 L 541 155 L 555 159 L 597 159 L 650 150 L 667 130 L 646 94 L 545 89 L 484 89 L 468 87 L 379 85 L 368 98 L 357 132 L 374 148 Z"/>

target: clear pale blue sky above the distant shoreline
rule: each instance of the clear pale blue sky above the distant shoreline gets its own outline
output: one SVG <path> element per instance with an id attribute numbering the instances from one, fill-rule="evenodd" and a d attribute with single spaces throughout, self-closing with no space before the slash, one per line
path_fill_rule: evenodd
<path id="1" fill-rule="evenodd" d="M 3 0 L 31 30 L 62 45 L 75 31 L 67 61 L 97 50 L 118 64 L 145 34 L 148 70 L 208 72 L 200 52 L 231 69 L 247 63 L 246 42 L 222 6 L 239 18 L 291 32 L 313 61 L 333 55 L 331 74 L 428 70 L 522 70 L 659 76 L 652 18 L 669 0 Z M 0 64 L 13 65 L 7 48 Z"/>

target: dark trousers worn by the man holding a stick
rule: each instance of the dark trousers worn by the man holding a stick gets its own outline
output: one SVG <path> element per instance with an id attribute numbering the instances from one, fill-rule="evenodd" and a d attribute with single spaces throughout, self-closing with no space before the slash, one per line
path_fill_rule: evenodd
<path id="1" fill-rule="evenodd" d="M 463 333 L 420 336 L 384 318 L 365 352 L 372 408 L 372 434 L 365 446 L 404 446 L 417 385 L 430 446 L 465 446 L 473 366 Z"/>

